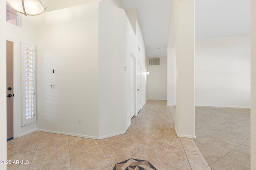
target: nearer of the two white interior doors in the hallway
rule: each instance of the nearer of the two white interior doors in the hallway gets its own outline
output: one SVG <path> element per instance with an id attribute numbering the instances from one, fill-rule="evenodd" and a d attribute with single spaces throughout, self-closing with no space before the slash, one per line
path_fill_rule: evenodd
<path id="1" fill-rule="evenodd" d="M 130 119 L 134 116 L 134 58 L 130 56 Z"/>

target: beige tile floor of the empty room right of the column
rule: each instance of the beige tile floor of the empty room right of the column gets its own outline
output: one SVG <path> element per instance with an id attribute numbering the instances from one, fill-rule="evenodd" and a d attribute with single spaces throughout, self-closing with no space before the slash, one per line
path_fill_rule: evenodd
<path id="1" fill-rule="evenodd" d="M 250 170 L 250 109 L 196 107 L 196 137 L 212 170 Z"/>

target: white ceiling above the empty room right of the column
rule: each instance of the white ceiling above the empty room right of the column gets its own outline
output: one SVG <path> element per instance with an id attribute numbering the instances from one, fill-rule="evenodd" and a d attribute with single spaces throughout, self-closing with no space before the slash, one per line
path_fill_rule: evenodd
<path id="1" fill-rule="evenodd" d="M 195 0 L 196 39 L 250 35 L 250 0 Z"/>

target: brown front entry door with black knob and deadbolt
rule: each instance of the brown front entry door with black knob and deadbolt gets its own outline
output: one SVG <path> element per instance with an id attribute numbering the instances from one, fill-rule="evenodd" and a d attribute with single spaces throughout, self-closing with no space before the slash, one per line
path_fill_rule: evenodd
<path id="1" fill-rule="evenodd" d="M 13 42 L 6 41 L 7 140 L 13 138 Z"/>

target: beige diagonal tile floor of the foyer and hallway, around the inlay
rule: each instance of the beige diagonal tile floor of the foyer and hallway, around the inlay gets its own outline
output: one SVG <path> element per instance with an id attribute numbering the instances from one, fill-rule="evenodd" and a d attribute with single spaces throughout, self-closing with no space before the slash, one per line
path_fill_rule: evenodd
<path id="1" fill-rule="evenodd" d="M 164 100 L 148 100 L 126 133 L 101 140 L 36 131 L 8 141 L 7 159 L 29 162 L 8 165 L 8 170 L 112 170 L 130 158 L 147 160 L 158 170 L 210 170 L 201 145 L 198 149 L 193 139 L 176 136 L 170 110 L 175 111 Z M 230 153 L 230 158 L 247 144 Z"/>

